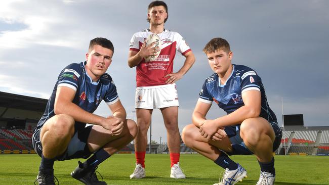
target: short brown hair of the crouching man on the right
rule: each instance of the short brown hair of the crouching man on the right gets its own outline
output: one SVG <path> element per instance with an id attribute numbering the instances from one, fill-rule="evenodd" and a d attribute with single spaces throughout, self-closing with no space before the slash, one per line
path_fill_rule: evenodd
<path id="1" fill-rule="evenodd" d="M 213 38 L 203 48 L 203 53 L 214 53 L 217 50 L 223 50 L 227 54 L 231 52 L 230 44 L 224 38 Z"/>

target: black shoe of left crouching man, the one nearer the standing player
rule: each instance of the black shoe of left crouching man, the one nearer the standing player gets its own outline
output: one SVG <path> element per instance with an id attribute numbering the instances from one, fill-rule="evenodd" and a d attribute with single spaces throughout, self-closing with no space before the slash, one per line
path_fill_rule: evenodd
<path id="1" fill-rule="evenodd" d="M 71 172 L 71 176 L 87 185 L 107 185 L 104 181 L 99 181 L 96 175 L 96 169 L 88 168 L 86 165 L 78 162 L 78 166 Z M 101 175 L 102 177 L 102 175 Z M 102 180 L 103 177 L 102 177 Z"/>

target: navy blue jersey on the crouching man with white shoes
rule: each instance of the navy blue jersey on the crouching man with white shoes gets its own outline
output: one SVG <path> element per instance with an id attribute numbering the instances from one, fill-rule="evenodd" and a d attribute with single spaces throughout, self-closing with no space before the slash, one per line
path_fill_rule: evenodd
<path id="1" fill-rule="evenodd" d="M 199 94 L 199 101 L 208 104 L 215 101 L 221 109 L 229 114 L 244 105 L 242 93 L 248 90 L 261 92 L 260 117 L 269 122 L 276 121 L 274 112 L 268 106 L 261 77 L 253 69 L 243 65 L 233 64 L 232 73 L 225 84 L 220 84 L 217 73 L 205 79 Z"/>

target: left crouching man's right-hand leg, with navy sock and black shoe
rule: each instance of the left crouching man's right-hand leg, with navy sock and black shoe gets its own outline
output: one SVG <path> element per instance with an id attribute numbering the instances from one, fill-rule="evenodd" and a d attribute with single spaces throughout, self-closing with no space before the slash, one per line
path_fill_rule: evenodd
<path id="1" fill-rule="evenodd" d="M 86 184 L 106 184 L 97 179 L 95 170 L 104 160 L 121 148 L 129 144 L 137 135 L 138 128 L 133 120 L 127 119 L 120 135 L 111 135 L 111 132 L 102 126 L 94 125 L 89 133 L 87 147 L 94 153 L 84 163 L 80 163 L 71 173 L 71 176 Z"/>

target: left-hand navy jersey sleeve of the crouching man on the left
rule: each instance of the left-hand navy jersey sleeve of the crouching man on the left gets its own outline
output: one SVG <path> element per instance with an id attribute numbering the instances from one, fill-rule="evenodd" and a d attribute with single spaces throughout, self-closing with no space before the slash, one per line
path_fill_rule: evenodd
<path id="1" fill-rule="evenodd" d="M 83 75 L 83 70 L 81 70 L 79 65 L 70 64 L 59 74 L 57 87 L 66 86 L 76 91 L 81 80 L 81 75 Z"/>

